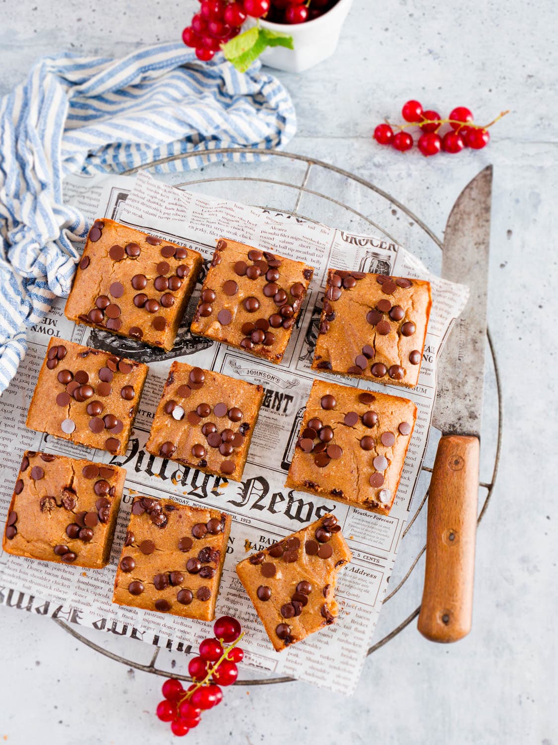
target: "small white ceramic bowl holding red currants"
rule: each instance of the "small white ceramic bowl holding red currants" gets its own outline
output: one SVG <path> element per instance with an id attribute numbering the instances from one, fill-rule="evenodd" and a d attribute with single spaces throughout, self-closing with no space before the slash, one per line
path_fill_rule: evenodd
<path id="1" fill-rule="evenodd" d="M 267 48 L 260 59 L 265 65 L 286 72 L 303 72 L 327 60 L 327 57 L 331 57 L 336 51 L 341 26 L 352 4 L 353 0 L 339 0 L 323 16 L 306 23 L 288 25 L 260 19 L 263 28 L 282 31 L 283 34 L 292 36 L 295 45 L 294 49 L 279 46 Z"/>

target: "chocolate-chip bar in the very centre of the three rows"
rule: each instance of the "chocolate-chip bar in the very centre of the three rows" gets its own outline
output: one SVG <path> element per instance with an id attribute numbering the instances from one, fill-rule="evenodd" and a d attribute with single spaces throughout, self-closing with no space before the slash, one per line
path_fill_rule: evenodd
<path id="1" fill-rule="evenodd" d="M 263 387 L 173 362 L 146 449 L 240 481 Z"/>

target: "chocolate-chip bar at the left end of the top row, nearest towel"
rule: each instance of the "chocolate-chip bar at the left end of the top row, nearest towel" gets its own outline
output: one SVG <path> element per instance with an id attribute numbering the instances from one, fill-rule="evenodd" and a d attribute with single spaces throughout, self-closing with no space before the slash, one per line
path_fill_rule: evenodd
<path id="1" fill-rule="evenodd" d="M 108 218 L 94 222 L 65 315 L 172 349 L 202 256 Z"/>

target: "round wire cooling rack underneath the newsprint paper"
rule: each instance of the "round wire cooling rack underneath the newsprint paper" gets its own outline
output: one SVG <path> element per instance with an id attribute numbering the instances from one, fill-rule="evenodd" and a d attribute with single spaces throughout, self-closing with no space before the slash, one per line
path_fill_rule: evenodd
<path id="1" fill-rule="evenodd" d="M 149 165 L 163 165 L 182 159 L 199 159 L 203 153 L 190 153 L 180 158 L 171 157 L 163 158 Z M 414 253 L 420 256 L 425 264 L 432 267 L 440 261 L 439 251 L 443 250 L 443 243 L 435 235 L 434 231 L 429 228 L 417 215 L 414 215 L 408 207 L 405 207 L 399 200 L 395 199 L 383 191 L 381 188 L 374 186 L 368 180 L 351 174 L 343 168 L 337 168 L 334 165 L 321 160 L 298 155 L 296 153 L 285 153 L 279 150 L 262 150 L 253 148 L 221 148 L 211 150 L 210 155 L 233 155 L 235 162 L 220 163 L 221 171 L 217 171 L 217 164 L 211 166 L 211 174 L 206 174 L 206 168 L 199 168 L 197 171 L 185 171 L 174 174 L 164 174 L 161 179 L 172 183 L 176 188 L 199 190 L 207 194 L 214 194 L 222 198 L 248 202 L 254 206 L 269 209 L 272 212 L 292 215 L 304 221 L 326 223 L 331 226 L 347 229 L 349 232 L 360 233 L 362 235 L 373 233 L 379 237 L 388 238 L 394 243 L 412 246 Z M 247 162 L 246 156 L 262 156 L 266 159 L 262 162 Z M 172 167 L 172 165 L 171 165 Z M 124 175 L 135 174 L 142 170 L 133 168 L 126 171 Z M 224 175 L 218 175 L 223 174 Z M 201 176 L 201 177 L 200 177 Z M 187 181 L 179 179 L 187 178 Z M 340 194 L 347 197 L 345 203 L 341 200 Z M 371 215 L 374 217 L 372 218 Z M 397 234 L 399 233 L 399 237 Z M 498 374 L 498 363 L 494 352 L 493 342 L 490 337 L 490 331 L 487 330 L 487 343 L 490 355 L 487 358 L 487 381 L 485 384 L 484 394 L 484 413 L 490 413 L 490 417 L 484 416 L 486 426 L 483 427 L 481 441 L 482 462 L 481 472 L 489 474 L 487 480 L 479 482 L 481 510 L 478 513 L 477 524 L 480 524 L 490 504 L 490 498 L 493 493 L 496 475 L 498 472 L 498 462 L 501 448 L 501 431 L 502 431 L 502 405 L 501 405 L 501 386 Z M 490 419 L 490 421 L 489 421 Z M 497 422 L 497 425 L 496 425 Z M 428 498 L 428 481 L 432 468 L 423 464 L 423 473 L 421 474 L 420 484 L 417 486 L 417 492 L 420 488 L 420 494 L 414 496 L 413 503 L 417 507 L 414 509 L 411 519 L 403 531 L 403 537 L 408 536 L 411 527 L 420 516 L 423 507 Z M 426 481 L 425 481 L 426 480 Z M 405 546 L 410 545 L 410 551 L 405 551 Z M 400 564 L 404 559 L 401 554 L 405 555 L 405 570 L 403 576 L 397 582 L 397 586 L 391 593 L 385 597 L 382 606 L 382 620 L 389 616 L 389 601 L 396 595 L 400 600 L 405 583 L 417 566 L 420 557 L 426 551 L 426 545 L 420 539 L 420 535 L 415 531 L 414 534 L 405 538 L 399 549 L 399 557 L 396 563 L 396 569 L 399 570 Z M 392 579 L 393 579 L 392 575 Z M 410 583 L 409 583 L 410 584 Z M 414 607 L 416 600 L 407 598 L 408 606 L 403 612 L 400 610 L 402 603 L 397 603 L 397 611 L 394 612 L 394 618 L 388 618 L 389 624 L 382 638 L 376 641 L 368 649 L 368 655 L 379 650 L 388 641 L 391 641 L 399 634 L 420 611 L 420 606 Z M 392 603 L 393 605 L 393 603 Z M 403 603 L 405 607 L 405 603 Z M 170 669 L 158 668 L 156 665 L 160 648 L 154 650 L 153 658 L 148 664 L 137 662 L 133 658 L 128 658 L 118 652 L 108 650 L 86 637 L 83 633 L 76 630 L 71 624 L 64 621 L 56 620 L 56 623 L 65 631 L 71 634 L 77 640 L 83 642 L 93 650 L 103 654 L 109 659 L 121 662 L 129 668 L 141 670 L 146 673 L 168 677 L 172 676 L 185 681 L 191 681 L 186 675 L 181 675 Z M 385 626 L 385 623 L 382 624 Z M 95 637 L 94 632 L 92 636 Z M 138 645 L 143 647 L 144 645 Z M 129 644 L 126 652 L 133 647 Z M 252 671 L 250 671 L 252 672 Z M 257 674 L 254 672 L 253 674 Z M 294 680 L 290 677 L 275 678 L 254 678 L 237 680 L 235 685 L 269 685 L 271 683 L 283 683 Z"/>

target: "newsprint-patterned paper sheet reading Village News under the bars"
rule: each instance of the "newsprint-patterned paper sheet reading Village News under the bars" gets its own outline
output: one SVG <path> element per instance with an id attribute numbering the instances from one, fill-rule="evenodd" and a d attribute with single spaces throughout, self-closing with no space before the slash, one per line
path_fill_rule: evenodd
<path id="1" fill-rule="evenodd" d="M 426 451 L 435 395 L 435 364 L 452 320 L 466 303 L 468 291 L 428 273 L 426 267 L 396 244 L 372 236 L 351 235 L 275 210 L 179 191 L 147 174 L 135 177 L 73 177 L 65 188 L 68 201 L 88 218 L 108 217 L 198 250 L 207 262 L 217 238 L 232 238 L 271 250 L 315 267 L 314 279 L 298 325 L 279 365 L 237 349 L 193 337 L 189 326 L 199 285 L 190 302 L 172 352 L 146 349 L 132 340 L 75 326 L 65 319 L 64 301 L 55 303 L 42 323 L 33 327 L 29 351 L 16 378 L 0 397 L 0 527 L 3 530 L 13 484 L 25 449 L 87 457 L 127 469 L 111 563 L 104 569 L 50 564 L 0 556 L 0 602 L 127 635 L 148 644 L 190 651 L 207 635 L 203 622 L 112 604 L 115 567 L 124 541 L 129 507 L 135 493 L 174 498 L 229 513 L 233 527 L 225 560 L 217 615 L 239 618 L 246 630 L 247 665 L 315 682 L 335 691 L 353 691 L 365 660 L 376 619 L 387 593 L 414 486 Z M 433 307 L 426 337 L 420 381 L 414 390 L 382 386 L 324 373 L 321 377 L 370 390 L 387 390 L 411 398 L 418 407 L 417 424 L 405 460 L 397 499 L 389 516 L 368 513 L 340 502 L 286 489 L 285 479 L 304 404 L 316 374 L 310 370 L 323 302 L 327 267 L 416 276 L 432 282 Z M 91 451 L 25 428 L 25 417 L 50 337 L 89 344 L 150 365 L 132 437 L 124 456 Z M 206 475 L 154 457 L 144 445 L 170 362 L 189 364 L 262 384 L 263 406 L 251 442 L 243 482 Z M 269 642 L 234 567 L 247 552 L 260 551 L 327 512 L 339 519 L 353 551 L 353 561 L 339 574 L 336 624 L 276 653 Z M 332 672 L 335 674 L 332 674 Z"/>

